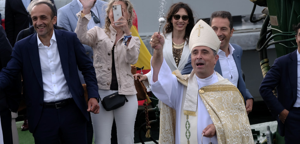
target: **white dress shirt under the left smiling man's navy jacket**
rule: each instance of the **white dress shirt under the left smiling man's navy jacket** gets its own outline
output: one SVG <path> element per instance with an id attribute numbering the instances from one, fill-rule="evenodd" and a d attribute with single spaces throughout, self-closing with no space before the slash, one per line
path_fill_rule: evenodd
<path id="1" fill-rule="evenodd" d="M 72 98 L 62 71 L 54 30 L 49 47 L 43 45 L 38 35 L 37 39 L 43 76 L 44 102 L 56 102 Z"/>

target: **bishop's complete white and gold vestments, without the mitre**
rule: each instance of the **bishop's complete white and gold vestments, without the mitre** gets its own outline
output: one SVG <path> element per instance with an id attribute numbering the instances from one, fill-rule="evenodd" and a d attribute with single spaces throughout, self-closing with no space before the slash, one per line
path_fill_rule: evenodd
<path id="1" fill-rule="evenodd" d="M 241 93 L 217 72 L 206 79 L 197 78 L 194 71 L 182 76 L 178 70 L 172 73 L 164 60 L 158 80 L 154 83 L 151 78 L 150 83 L 153 94 L 165 103 L 159 143 L 201 143 L 209 124 L 216 128 L 214 144 L 254 143 Z M 203 143 L 209 142 L 203 137 Z"/>

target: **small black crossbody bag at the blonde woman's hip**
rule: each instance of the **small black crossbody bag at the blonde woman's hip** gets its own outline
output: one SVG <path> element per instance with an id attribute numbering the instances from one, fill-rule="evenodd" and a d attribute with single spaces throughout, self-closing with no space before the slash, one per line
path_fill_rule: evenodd
<path id="1" fill-rule="evenodd" d="M 127 98 L 125 97 L 124 94 L 119 94 L 119 92 L 110 94 L 101 100 L 101 104 L 103 108 L 106 111 L 111 111 L 114 109 L 117 109 L 125 104 L 125 102 L 128 102 Z"/>

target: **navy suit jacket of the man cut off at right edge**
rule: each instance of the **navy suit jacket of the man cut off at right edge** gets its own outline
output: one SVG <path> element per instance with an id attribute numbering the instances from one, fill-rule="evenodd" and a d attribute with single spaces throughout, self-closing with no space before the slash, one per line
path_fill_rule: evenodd
<path id="1" fill-rule="evenodd" d="M 261 82 L 259 93 L 273 116 L 277 117 L 278 129 L 284 136 L 284 124 L 278 118 L 284 109 L 291 110 L 297 100 L 298 50 L 277 58 Z M 272 90 L 276 87 L 277 98 Z"/>

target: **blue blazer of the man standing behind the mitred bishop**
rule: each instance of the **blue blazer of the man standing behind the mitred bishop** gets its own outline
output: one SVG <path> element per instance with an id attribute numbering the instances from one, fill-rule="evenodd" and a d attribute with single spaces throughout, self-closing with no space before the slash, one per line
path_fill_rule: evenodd
<path id="1" fill-rule="evenodd" d="M 242 96 L 244 97 L 244 100 L 246 101 L 247 99 L 253 98 L 253 97 L 250 94 L 249 90 L 246 89 L 246 84 L 243 79 L 243 72 L 242 72 L 242 67 L 241 67 L 241 59 L 242 59 L 243 50 L 239 45 L 231 43 L 231 46 L 235 49 L 232 53 L 232 56 L 235 61 L 236 68 L 238 69 L 238 73 L 239 73 L 237 88 L 239 89 Z M 183 74 L 183 75 L 190 74 L 192 69 L 193 68 L 191 65 L 191 54 L 190 54 L 190 57 L 187 60 L 187 64 L 184 66 L 183 70 L 181 71 L 181 74 Z M 220 65 L 219 60 L 217 61 L 217 64 L 215 65 L 214 70 L 222 76 L 222 70 L 221 70 L 221 65 Z"/>

